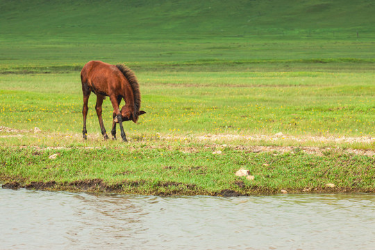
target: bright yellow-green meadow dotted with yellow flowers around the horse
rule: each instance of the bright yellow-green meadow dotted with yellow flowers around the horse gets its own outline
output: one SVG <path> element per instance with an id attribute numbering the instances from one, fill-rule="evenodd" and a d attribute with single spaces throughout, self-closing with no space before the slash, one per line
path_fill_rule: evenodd
<path id="1" fill-rule="evenodd" d="M 130 137 L 204 134 L 374 136 L 374 73 L 138 72 L 142 109 Z M 0 75 L 3 126 L 82 130 L 79 73 Z M 99 133 L 90 97 L 89 137 Z M 112 106 L 103 106 L 106 128 Z M 370 145 L 369 145 L 370 146 Z"/>

